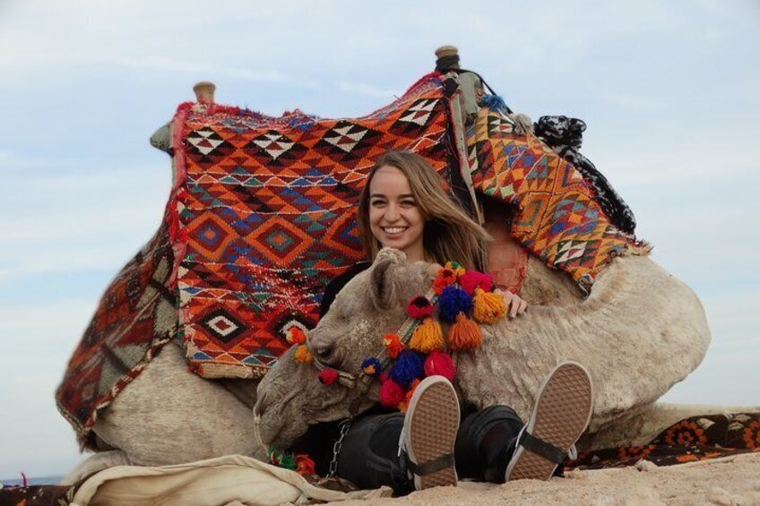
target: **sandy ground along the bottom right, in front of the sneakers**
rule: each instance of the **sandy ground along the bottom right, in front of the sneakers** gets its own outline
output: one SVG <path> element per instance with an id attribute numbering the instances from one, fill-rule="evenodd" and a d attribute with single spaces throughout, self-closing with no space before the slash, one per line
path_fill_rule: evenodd
<path id="1" fill-rule="evenodd" d="M 462 482 L 373 504 L 449 506 L 466 504 L 657 504 L 760 505 L 760 454 L 744 454 L 671 467 L 641 461 L 635 467 L 571 471 L 549 482 L 522 480 L 505 485 Z M 333 502 L 344 506 L 367 502 Z"/>

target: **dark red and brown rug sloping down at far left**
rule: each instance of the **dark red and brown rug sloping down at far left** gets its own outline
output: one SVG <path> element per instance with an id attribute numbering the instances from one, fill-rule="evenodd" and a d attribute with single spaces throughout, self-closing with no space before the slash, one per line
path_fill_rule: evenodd
<path id="1" fill-rule="evenodd" d="M 74 350 L 56 402 L 82 446 L 92 448 L 90 429 L 99 409 L 177 335 L 174 264 L 165 221 L 111 282 Z"/>

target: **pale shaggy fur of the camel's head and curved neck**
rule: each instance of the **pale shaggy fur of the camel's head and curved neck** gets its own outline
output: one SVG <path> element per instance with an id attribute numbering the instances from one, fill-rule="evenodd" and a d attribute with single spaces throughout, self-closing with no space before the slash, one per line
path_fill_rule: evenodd
<path id="1" fill-rule="evenodd" d="M 615 259 L 586 298 L 565 276 L 541 267 L 540 261 L 529 265 L 522 294 L 531 303 L 528 313 L 482 326 L 481 347 L 454 354 L 462 400 L 511 406 L 527 418 L 548 371 L 575 360 L 594 383 L 593 434 L 651 408 L 702 361 L 710 342 L 702 305 L 650 258 Z M 359 375 L 362 361 L 380 351 L 384 333 L 401 327 L 410 298 L 427 292 L 435 271 L 384 249 L 309 333 L 312 352 L 332 368 Z M 296 363 L 293 353 L 259 385 L 255 411 L 263 442 L 287 446 L 309 424 L 356 415 L 376 402 L 377 382 L 324 386 L 315 366 Z"/>

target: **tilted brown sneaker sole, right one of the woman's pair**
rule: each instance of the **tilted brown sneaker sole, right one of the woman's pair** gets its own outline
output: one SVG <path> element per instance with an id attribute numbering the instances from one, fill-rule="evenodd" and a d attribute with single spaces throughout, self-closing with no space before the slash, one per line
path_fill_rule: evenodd
<path id="1" fill-rule="evenodd" d="M 566 452 L 589 425 L 592 399 L 591 377 L 583 365 L 559 364 L 541 386 L 525 430 Z M 556 469 L 554 462 L 518 446 L 506 467 L 505 479 L 548 480 Z"/>

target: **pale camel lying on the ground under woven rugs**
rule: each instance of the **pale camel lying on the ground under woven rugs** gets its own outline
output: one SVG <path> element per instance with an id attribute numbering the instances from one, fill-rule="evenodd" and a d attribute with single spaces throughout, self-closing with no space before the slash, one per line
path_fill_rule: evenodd
<path id="1" fill-rule="evenodd" d="M 477 100 L 467 98 L 477 96 L 481 85 L 473 74 L 461 77 L 458 110 L 464 122 L 477 116 Z M 201 96 L 209 89 L 196 90 L 199 104 L 213 101 Z M 530 121 L 515 124 L 530 130 Z M 168 126 L 151 142 L 168 150 Z M 492 230 L 494 236 L 498 232 Z M 315 353 L 329 349 L 325 361 L 330 366 L 358 374 L 359 364 L 380 349 L 378 337 L 398 328 L 410 294 L 424 293 L 428 283 L 428 266 L 408 264 L 399 252 L 384 251 L 310 332 L 310 346 Z M 146 290 L 145 300 L 152 291 Z M 392 297 L 379 300 L 372 295 L 376 293 Z M 521 296 L 531 304 L 526 316 L 484 328 L 482 348 L 457 354 L 462 400 L 478 406 L 506 404 L 525 417 L 548 370 L 574 359 L 589 368 L 596 383 L 588 449 L 645 441 L 682 417 L 721 411 L 654 404 L 701 362 L 710 332 L 695 294 L 649 257 L 615 258 L 584 297 L 566 273 L 531 256 Z M 176 317 L 173 305 L 162 304 L 163 320 Z M 377 311 L 385 306 L 387 311 Z M 99 411 L 92 433 L 100 452 L 74 469 L 65 483 L 122 464 L 161 466 L 229 454 L 266 459 L 266 444 L 287 447 L 307 425 L 356 415 L 376 402 L 376 384 L 326 387 L 318 382 L 315 367 L 296 364 L 293 354 L 291 348 L 281 356 L 260 384 L 257 379 L 210 380 L 188 371 L 184 345 L 171 339 Z"/>

